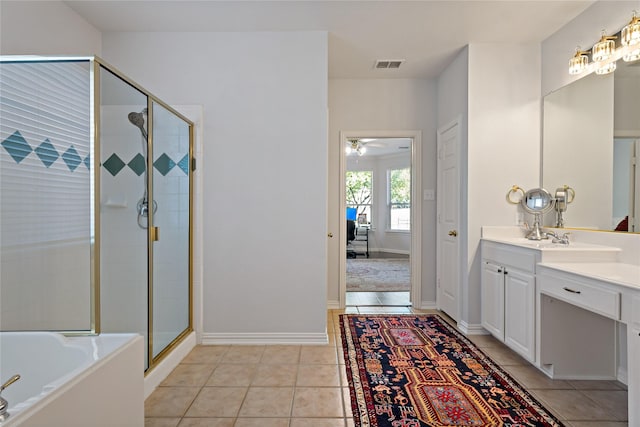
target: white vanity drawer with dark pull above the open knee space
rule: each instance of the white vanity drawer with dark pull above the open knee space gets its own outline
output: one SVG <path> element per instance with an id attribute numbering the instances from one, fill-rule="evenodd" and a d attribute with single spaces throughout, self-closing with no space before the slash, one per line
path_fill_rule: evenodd
<path id="1" fill-rule="evenodd" d="M 562 275 L 538 276 L 540 292 L 614 320 L 620 320 L 620 292 Z"/>

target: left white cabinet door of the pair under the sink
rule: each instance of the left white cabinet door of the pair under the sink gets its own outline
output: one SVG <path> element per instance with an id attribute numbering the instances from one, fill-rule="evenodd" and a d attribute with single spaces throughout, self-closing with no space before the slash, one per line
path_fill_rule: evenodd
<path id="1" fill-rule="evenodd" d="M 500 341 L 504 341 L 503 270 L 491 262 L 482 265 L 482 326 Z"/>

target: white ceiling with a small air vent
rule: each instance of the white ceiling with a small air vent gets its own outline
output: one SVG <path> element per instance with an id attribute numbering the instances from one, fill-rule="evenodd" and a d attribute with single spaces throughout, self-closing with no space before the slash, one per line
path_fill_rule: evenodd
<path id="1" fill-rule="evenodd" d="M 102 32 L 327 31 L 331 78 L 432 78 L 469 43 L 538 43 L 593 1 L 65 2 Z M 404 59 L 377 70 L 378 59 Z"/>

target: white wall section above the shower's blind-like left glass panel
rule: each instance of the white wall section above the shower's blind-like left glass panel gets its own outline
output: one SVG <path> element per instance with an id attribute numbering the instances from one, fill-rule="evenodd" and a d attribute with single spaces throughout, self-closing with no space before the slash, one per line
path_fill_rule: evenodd
<path id="1" fill-rule="evenodd" d="M 1 1 L 0 54 L 100 55 L 100 31 L 61 1 Z"/>

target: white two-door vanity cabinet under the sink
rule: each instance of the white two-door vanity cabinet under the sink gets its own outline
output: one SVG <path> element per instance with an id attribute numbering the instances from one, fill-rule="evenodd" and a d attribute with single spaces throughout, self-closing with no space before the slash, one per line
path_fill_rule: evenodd
<path id="1" fill-rule="evenodd" d="M 512 350 L 535 362 L 536 251 L 482 243 L 482 326 Z"/>

